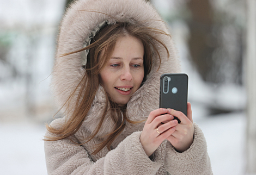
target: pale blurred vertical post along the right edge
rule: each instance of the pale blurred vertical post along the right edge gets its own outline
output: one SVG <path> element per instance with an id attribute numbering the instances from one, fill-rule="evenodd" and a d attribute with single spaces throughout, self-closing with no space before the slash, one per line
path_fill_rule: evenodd
<path id="1" fill-rule="evenodd" d="M 247 0 L 247 173 L 256 174 L 256 0 Z"/>

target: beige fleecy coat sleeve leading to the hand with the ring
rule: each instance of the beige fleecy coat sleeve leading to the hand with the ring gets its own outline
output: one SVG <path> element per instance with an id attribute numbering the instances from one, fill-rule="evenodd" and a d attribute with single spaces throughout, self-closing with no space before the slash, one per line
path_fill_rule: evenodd
<path id="1" fill-rule="evenodd" d="M 155 152 L 151 161 L 141 145 L 141 132 L 127 136 L 118 147 L 92 163 L 87 151 L 69 139 L 45 141 L 48 174 L 156 174 L 163 164 L 165 147 Z M 46 136 L 52 136 L 47 132 Z M 159 155 L 163 154 L 163 155 Z"/>

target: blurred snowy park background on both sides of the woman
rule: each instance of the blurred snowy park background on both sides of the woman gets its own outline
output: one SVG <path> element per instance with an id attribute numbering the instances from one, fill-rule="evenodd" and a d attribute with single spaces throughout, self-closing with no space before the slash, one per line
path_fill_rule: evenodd
<path id="1" fill-rule="evenodd" d="M 214 174 L 249 174 L 245 60 L 250 0 L 151 2 L 169 24 L 182 72 L 188 74 L 188 101 L 208 142 Z M 47 174 L 42 139 L 45 122 L 57 111 L 49 84 L 67 3 L 0 0 L 1 174 Z"/>

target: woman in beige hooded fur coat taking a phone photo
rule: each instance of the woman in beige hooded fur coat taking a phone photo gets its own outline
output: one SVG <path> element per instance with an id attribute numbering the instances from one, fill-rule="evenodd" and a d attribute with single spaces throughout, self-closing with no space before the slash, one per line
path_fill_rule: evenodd
<path id="1" fill-rule="evenodd" d="M 149 3 L 72 4 L 53 70 L 65 117 L 47 126 L 48 174 L 212 174 L 190 103 L 187 117 L 157 109 L 161 74 L 179 71 L 168 30 Z"/>

